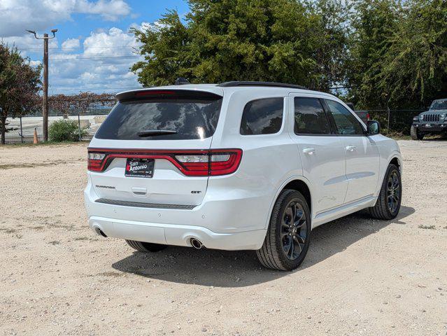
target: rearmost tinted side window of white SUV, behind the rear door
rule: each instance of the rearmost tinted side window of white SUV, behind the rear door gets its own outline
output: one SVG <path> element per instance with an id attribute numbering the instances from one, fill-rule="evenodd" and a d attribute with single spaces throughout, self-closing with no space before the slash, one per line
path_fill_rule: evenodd
<path id="1" fill-rule="evenodd" d="M 278 133 L 283 125 L 283 106 L 282 97 L 248 102 L 243 108 L 241 134 Z"/>

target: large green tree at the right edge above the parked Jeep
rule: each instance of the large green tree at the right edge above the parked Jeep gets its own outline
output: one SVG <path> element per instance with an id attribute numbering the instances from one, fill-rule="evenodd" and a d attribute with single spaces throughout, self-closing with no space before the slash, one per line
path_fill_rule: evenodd
<path id="1" fill-rule="evenodd" d="M 355 2 L 348 62 L 357 106 L 425 107 L 447 92 L 447 1 Z"/>

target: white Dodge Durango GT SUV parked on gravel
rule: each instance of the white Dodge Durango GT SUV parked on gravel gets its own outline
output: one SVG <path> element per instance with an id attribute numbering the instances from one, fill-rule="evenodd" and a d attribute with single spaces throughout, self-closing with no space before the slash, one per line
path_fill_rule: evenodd
<path id="1" fill-rule="evenodd" d="M 136 250 L 255 250 L 290 270 L 316 226 L 399 212 L 399 146 L 331 94 L 227 82 L 117 99 L 88 148 L 85 207 L 90 228 Z"/>

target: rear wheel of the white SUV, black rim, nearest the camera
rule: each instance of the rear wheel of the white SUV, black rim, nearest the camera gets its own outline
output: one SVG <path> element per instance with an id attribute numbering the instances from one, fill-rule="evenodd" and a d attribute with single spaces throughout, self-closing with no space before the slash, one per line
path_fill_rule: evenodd
<path id="1" fill-rule="evenodd" d="M 283 190 L 271 212 L 264 244 L 256 251 L 257 258 L 264 267 L 291 271 L 303 262 L 310 241 L 311 216 L 306 199 L 296 190 Z"/>

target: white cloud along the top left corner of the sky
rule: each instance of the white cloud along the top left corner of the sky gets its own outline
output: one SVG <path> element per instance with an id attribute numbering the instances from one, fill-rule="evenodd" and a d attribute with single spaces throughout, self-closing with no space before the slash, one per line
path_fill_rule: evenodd
<path id="1" fill-rule="evenodd" d="M 129 15 L 130 7 L 124 0 L 0 0 L 0 36 L 52 28 L 57 22 L 71 20 L 76 13 L 113 21 Z"/>

